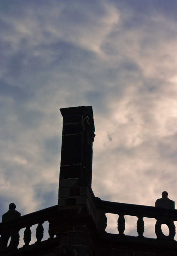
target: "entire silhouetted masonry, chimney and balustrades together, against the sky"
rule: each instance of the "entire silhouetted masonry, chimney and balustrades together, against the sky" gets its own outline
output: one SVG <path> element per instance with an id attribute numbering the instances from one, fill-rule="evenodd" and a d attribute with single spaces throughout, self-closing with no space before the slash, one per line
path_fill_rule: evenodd
<path id="1" fill-rule="evenodd" d="M 95 197 L 91 189 L 92 143 L 95 136 L 92 107 L 60 110 L 63 135 L 58 205 L 20 217 L 15 204 L 10 204 L 0 223 L 0 255 L 177 255 L 177 242 L 174 240 L 177 210 L 174 209 L 174 202 L 168 199 L 168 193 L 162 193 L 155 207 L 114 203 Z M 105 232 L 106 213 L 118 215 L 118 234 Z M 124 234 L 125 215 L 137 217 L 137 236 Z M 157 220 L 154 227 L 156 239 L 143 236 L 143 217 Z M 44 221 L 49 222 L 50 238 L 41 241 Z M 169 228 L 169 236 L 162 233 L 163 223 Z M 29 245 L 31 227 L 35 224 L 36 242 Z M 19 237 L 20 229 L 24 230 L 22 237 Z M 24 240 L 21 248 L 18 248 L 19 239 L 20 242 Z"/>

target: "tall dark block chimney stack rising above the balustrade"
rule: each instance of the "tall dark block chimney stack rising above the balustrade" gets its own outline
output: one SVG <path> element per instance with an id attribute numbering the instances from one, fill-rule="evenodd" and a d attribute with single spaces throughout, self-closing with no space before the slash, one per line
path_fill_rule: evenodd
<path id="1" fill-rule="evenodd" d="M 60 111 L 63 132 L 58 207 L 81 204 L 82 194 L 88 194 L 86 190 L 93 193 L 92 143 L 95 137 L 91 106 L 61 108 Z"/>

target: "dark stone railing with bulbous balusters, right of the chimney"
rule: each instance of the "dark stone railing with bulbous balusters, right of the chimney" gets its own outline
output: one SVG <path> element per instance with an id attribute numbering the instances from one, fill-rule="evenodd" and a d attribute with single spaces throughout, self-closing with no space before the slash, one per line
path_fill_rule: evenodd
<path id="1" fill-rule="evenodd" d="M 159 199 L 158 199 L 159 200 Z M 171 200 L 170 200 L 171 201 Z M 173 202 L 173 201 L 172 201 Z M 177 220 L 177 210 L 136 205 L 136 204 L 124 204 L 114 203 L 109 201 L 97 200 L 97 207 L 99 209 L 98 217 L 98 231 L 105 232 L 107 227 L 106 213 L 118 214 L 118 236 L 125 236 L 125 215 L 136 216 L 137 219 L 137 237 L 144 237 L 144 217 L 156 219 L 155 233 L 157 238 L 165 240 L 173 240 L 175 236 L 174 221 Z M 169 228 L 169 235 L 165 236 L 162 232 L 161 225 L 166 224 Z M 175 240 L 173 240 L 175 241 Z"/>

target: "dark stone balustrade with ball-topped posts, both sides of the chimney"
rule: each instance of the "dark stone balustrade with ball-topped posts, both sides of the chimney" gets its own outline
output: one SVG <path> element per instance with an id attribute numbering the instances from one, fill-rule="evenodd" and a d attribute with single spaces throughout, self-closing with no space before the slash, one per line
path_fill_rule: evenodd
<path id="1" fill-rule="evenodd" d="M 124 203 L 114 203 L 108 201 L 102 201 L 99 198 L 96 199 L 97 207 L 97 219 L 98 219 L 98 231 L 103 236 L 106 236 L 105 228 L 107 226 L 106 213 L 117 214 L 117 229 L 118 229 L 118 239 L 126 239 L 124 234 L 126 227 L 126 215 L 136 216 L 136 228 L 137 236 L 136 239 L 145 239 L 144 233 L 144 220 L 143 218 L 154 218 L 156 219 L 156 224 L 154 227 L 155 234 L 158 239 L 173 240 L 175 236 L 175 225 L 174 221 L 177 221 L 177 210 L 174 209 L 174 202 L 167 198 L 167 192 L 162 193 L 162 198 L 157 199 L 156 207 L 145 206 L 145 205 L 135 205 L 135 204 L 124 204 Z M 44 236 L 43 223 L 49 221 L 48 242 L 52 242 L 55 235 L 55 228 L 53 227 L 57 218 L 58 206 L 52 206 L 50 208 L 33 212 L 20 217 L 20 213 L 15 210 L 15 204 L 9 205 L 9 211 L 3 214 L 2 223 L 0 223 L 0 255 L 3 255 L 4 251 L 17 249 L 19 246 L 19 230 L 24 230 L 23 248 L 28 248 L 30 246 L 32 227 L 36 227 L 36 242 L 35 246 L 40 246 L 42 243 L 42 238 Z M 15 216 L 15 218 L 13 217 Z M 162 224 L 166 224 L 169 228 L 169 235 L 165 236 L 162 232 Z M 8 241 L 10 239 L 10 243 Z M 153 239 L 153 238 L 152 238 Z M 174 240 L 173 240 L 174 241 Z M 34 242 L 34 241 L 33 241 Z M 21 246 L 21 242 L 20 242 Z"/>

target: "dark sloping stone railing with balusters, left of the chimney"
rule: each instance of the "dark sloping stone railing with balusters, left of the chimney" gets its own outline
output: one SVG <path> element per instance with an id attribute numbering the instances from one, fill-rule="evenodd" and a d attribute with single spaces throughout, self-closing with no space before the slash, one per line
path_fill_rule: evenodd
<path id="1" fill-rule="evenodd" d="M 11 220 L 3 221 L 0 223 L 0 253 L 18 248 L 20 238 L 19 230 L 22 228 L 25 228 L 23 235 L 23 248 L 29 247 L 29 243 L 31 241 L 31 227 L 35 224 L 38 224 L 36 228 L 37 241 L 35 246 L 40 246 L 44 234 L 44 228 L 42 224 L 47 220 L 50 223 L 50 219 L 54 218 L 57 214 L 57 207 L 58 205 L 55 205 L 41 211 L 32 212 L 21 217 L 16 217 L 15 219 L 13 219 L 13 212 L 11 212 Z M 15 211 L 14 208 L 14 213 L 15 212 L 17 211 Z M 51 241 L 55 235 L 54 228 L 51 226 L 51 224 L 49 224 L 48 233 L 50 236 L 48 240 Z M 11 241 L 8 245 L 9 239 L 11 239 Z"/>

